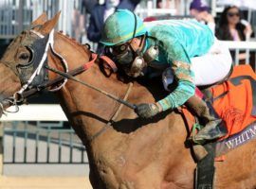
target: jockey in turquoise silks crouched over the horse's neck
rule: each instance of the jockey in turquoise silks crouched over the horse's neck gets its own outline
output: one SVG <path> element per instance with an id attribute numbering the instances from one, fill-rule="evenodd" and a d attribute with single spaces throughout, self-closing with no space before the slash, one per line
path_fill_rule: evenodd
<path id="1" fill-rule="evenodd" d="M 143 23 L 133 12 L 118 9 L 103 26 L 101 43 L 130 77 L 162 75 L 164 88 L 174 90 L 156 103 L 137 105 L 137 115 L 149 118 L 183 104 L 205 126 L 195 141 L 213 140 L 227 130 L 212 107 L 195 94 L 195 86 L 210 85 L 229 76 L 229 49 L 214 37 L 210 28 L 196 21 Z"/>

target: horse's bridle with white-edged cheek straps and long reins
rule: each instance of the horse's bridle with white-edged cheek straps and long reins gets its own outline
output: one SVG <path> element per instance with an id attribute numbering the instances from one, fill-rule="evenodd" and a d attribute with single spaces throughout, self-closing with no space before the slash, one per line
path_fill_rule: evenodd
<path id="1" fill-rule="evenodd" d="M 44 36 L 38 32 L 36 32 L 35 30 L 30 29 L 30 32 L 36 34 L 40 39 L 44 38 Z M 100 92 L 101 94 L 104 94 L 116 101 L 118 101 L 119 103 L 131 108 L 131 109 L 136 109 L 136 105 L 131 104 L 127 101 L 125 101 L 124 99 L 120 99 L 119 97 L 113 95 L 113 94 L 108 94 L 107 92 L 96 88 L 94 86 L 91 86 L 89 84 L 87 84 L 86 82 L 76 78 L 75 76 L 81 74 L 82 72 L 88 70 L 97 59 L 99 59 L 97 54 L 91 53 L 91 57 L 90 60 L 88 62 L 85 62 L 82 66 L 68 71 L 68 67 L 67 67 L 67 63 L 64 60 L 64 58 L 58 54 L 57 52 L 54 51 L 53 48 L 53 43 L 54 43 L 54 38 L 53 38 L 53 34 L 54 34 L 54 30 L 52 30 L 49 33 L 48 36 L 48 41 L 46 43 L 45 46 L 45 51 L 44 51 L 44 55 L 42 56 L 42 60 L 40 60 L 40 63 L 38 64 L 38 66 L 35 68 L 35 70 L 33 71 L 32 75 L 29 77 L 29 79 L 27 79 L 27 83 L 25 83 L 24 85 L 22 85 L 21 89 L 14 93 L 12 96 L 9 96 L 8 98 L 5 98 L 4 100 L 2 100 L 0 102 L 0 112 L 8 112 L 6 111 L 7 108 L 9 108 L 10 106 L 15 106 L 16 107 L 16 111 L 18 112 L 18 105 L 24 103 L 24 101 L 27 99 L 27 97 L 31 96 L 32 94 L 36 94 L 38 92 L 41 92 L 43 90 L 45 90 L 46 88 L 49 87 L 53 87 L 53 86 L 58 86 L 52 90 L 48 90 L 48 91 L 58 91 L 60 89 L 62 89 L 64 87 L 64 84 L 66 83 L 67 79 L 72 79 L 75 80 L 79 83 L 81 83 L 82 85 L 85 85 L 87 87 L 89 87 L 90 89 L 93 89 L 97 92 Z M 53 52 L 53 54 L 55 56 L 57 56 L 59 59 L 62 60 L 63 65 L 64 65 L 64 72 L 51 68 L 46 64 L 46 57 L 47 57 L 47 52 L 48 50 L 51 50 Z M 31 53 L 33 53 L 33 50 L 30 51 Z M 110 66 L 111 69 L 113 69 L 114 71 L 116 71 L 117 67 L 115 67 L 115 63 L 110 61 L 109 58 L 103 56 L 101 57 L 102 60 L 105 60 L 105 62 L 108 63 L 108 66 Z M 5 63 L 5 62 L 4 62 Z M 13 70 L 13 68 L 10 68 L 14 73 L 15 70 Z M 34 81 L 34 79 L 40 75 L 40 73 L 42 74 L 42 72 L 47 69 L 49 71 L 55 72 L 56 74 L 59 75 L 59 77 L 56 77 L 52 80 L 46 80 L 43 81 L 41 84 L 37 85 L 37 86 L 31 86 L 31 83 Z M 15 73 L 16 74 L 16 73 Z M 61 83 L 61 84 L 60 84 Z M 59 84 L 59 85 L 58 85 Z M 128 90 L 129 91 L 129 90 Z"/>

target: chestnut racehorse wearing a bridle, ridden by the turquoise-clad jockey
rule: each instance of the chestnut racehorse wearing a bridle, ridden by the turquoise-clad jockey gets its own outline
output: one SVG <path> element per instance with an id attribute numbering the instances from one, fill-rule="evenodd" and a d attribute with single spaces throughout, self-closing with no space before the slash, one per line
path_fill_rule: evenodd
<path id="1" fill-rule="evenodd" d="M 22 32 L 9 45 L 0 62 L 0 100 L 4 101 L 20 91 L 24 86 L 22 80 L 31 77 L 36 67 L 29 70 L 29 62 L 36 60 L 39 52 L 33 52 L 27 46 L 35 42 L 38 44 L 42 39 L 44 41 L 58 18 L 59 14 L 46 20 L 46 14 L 42 14 L 32 23 L 32 29 Z M 53 49 L 47 48 L 46 51 L 49 67 L 64 71 L 64 64 L 56 54 L 63 57 L 69 70 L 89 61 L 91 52 L 86 47 L 60 32 L 54 32 L 53 36 Z M 46 43 L 37 45 L 36 49 L 40 49 L 40 46 L 45 47 Z M 22 74 L 17 72 L 20 66 L 25 68 Z M 124 98 L 129 84 L 120 81 L 117 74 L 106 76 L 100 68 L 100 63 L 94 63 L 76 77 L 109 94 Z M 49 80 L 57 77 L 57 74 L 46 71 L 44 67 L 41 72 L 47 72 Z M 42 78 L 46 76 L 39 80 Z M 134 82 L 127 100 L 134 104 L 155 102 L 155 95 L 160 88 Z M 71 126 L 86 146 L 93 188 L 193 188 L 196 163 L 190 148 L 184 145 L 187 129 L 180 113 L 163 112 L 154 119 L 142 120 L 132 109 L 119 109 L 119 102 L 71 80 L 56 94 Z M 118 109 L 119 113 L 111 126 L 104 129 Z M 225 162 L 215 163 L 215 188 L 256 187 L 255 146 L 254 140 L 230 151 Z"/>

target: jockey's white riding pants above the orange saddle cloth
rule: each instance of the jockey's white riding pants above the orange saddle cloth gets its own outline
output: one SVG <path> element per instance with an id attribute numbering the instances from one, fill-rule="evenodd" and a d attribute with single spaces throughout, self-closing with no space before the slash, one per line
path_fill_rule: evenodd
<path id="1" fill-rule="evenodd" d="M 231 68 L 232 58 L 229 48 L 215 38 L 207 54 L 191 58 L 195 86 L 210 85 L 227 77 Z M 162 74 L 164 88 L 173 83 L 174 75 L 171 68 Z"/>

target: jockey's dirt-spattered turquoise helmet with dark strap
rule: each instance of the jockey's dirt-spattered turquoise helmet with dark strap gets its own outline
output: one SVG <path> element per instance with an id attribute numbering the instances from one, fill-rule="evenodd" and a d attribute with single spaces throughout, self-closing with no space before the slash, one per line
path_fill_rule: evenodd
<path id="1" fill-rule="evenodd" d="M 105 21 L 101 43 L 113 46 L 144 35 L 146 32 L 143 21 L 134 12 L 128 9 L 117 9 Z"/>

